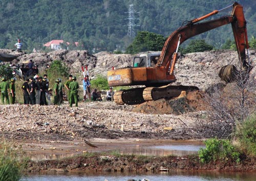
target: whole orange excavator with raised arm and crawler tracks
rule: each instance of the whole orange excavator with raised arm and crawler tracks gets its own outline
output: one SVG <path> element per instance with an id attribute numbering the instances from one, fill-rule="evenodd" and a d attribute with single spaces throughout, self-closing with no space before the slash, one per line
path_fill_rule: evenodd
<path id="1" fill-rule="evenodd" d="M 199 21 L 229 7 L 233 7 L 231 15 L 199 23 Z M 140 104 L 145 101 L 174 98 L 179 96 L 182 91 L 198 90 L 196 86 L 170 85 L 176 81 L 174 68 L 179 46 L 190 37 L 227 24 L 232 26 L 241 70 L 250 70 L 249 58 L 247 62 L 245 52 L 245 49 L 249 48 L 246 20 L 243 7 L 235 2 L 226 8 L 190 20 L 186 25 L 175 30 L 165 41 L 160 57 L 155 61 L 154 66 L 151 66 L 151 58 L 136 57 L 133 67 L 108 71 L 109 86 L 144 85 L 144 87 L 119 90 L 114 95 L 115 102 L 117 104 Z"/>

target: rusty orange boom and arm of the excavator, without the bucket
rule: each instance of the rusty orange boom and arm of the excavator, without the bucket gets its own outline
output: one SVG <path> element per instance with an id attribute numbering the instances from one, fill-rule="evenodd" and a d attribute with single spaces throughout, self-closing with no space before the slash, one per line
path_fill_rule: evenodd
<path id="1" fill-rule="evenodd" d="M 189 21 L 186 26 L 183 26 L 170 34 L 164 43 L 161 56 L 156 66 L 164 66 L 166 74 L 173 74 L 177 59 L 175 54 L 179 44 L 188 38 L 231 23 L 241 66 L 243 69 L 247 69 L 248 63 L 246 62 L 245 48 L 249 48 L 249 46 L 243 7 L 238 3 L 234 3 L 232 6 L 233 10 L 230 16 L 223 16 L 218 19 L 195 23 L 219 12 L 218 10 L 215 10 L 208 15 Z"/>

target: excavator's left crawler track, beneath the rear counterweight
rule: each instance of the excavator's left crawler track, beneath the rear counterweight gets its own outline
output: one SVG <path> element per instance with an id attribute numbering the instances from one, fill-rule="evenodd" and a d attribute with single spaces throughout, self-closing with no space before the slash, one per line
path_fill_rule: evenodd
<path id="1" fill-rule="evenodd" d="M 114 101 L 117 104 L 141 104 L 145 102 L 143 99 L 144 88 L 145 87 L 119 90 L 114 94 Z"/>

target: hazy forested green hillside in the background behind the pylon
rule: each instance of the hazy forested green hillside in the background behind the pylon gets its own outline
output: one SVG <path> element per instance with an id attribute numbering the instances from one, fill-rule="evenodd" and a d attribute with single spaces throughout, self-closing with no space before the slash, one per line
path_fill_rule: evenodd
<path id="1" fill-rule="evenodd" d="M 240 0 L 244 6 L 249 40 L 255 34 L 256 1 Z M 231 5 L 230 0 L 2 0 L 0 3 L 0 48 L 14 49 L 18 38 L 24 49 L 42 49 L 53 39 L 70 42 L 71 49 L 90 52 L 124 50 L 133 40 L 127 36 L 129 5 L 133 4 L 135 33 L 149 31 L 167 37 L 185 20 L 200 17 L 213 10 Z M 212 18 L 228 15 L 231 8 Z M 233 39 L 231 26 L 196 36 L 219 48 Z M 79 47 L 73 42 L 78 41 Z"/>

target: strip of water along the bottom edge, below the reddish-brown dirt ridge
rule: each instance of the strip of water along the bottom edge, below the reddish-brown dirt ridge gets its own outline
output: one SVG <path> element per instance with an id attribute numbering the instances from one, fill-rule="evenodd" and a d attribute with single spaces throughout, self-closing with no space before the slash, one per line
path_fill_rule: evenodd
<path id="1" fill-rule="evenodd" d="M 70 181 L 127 181 L 129 179 L 143 180 L 146 178 L 150 181 L 198 181 L 198 180 L 216 180 L 216 181 L 232 181 L 232 180 L 244 180 L 251 181 L 255 180 L 256 173 L 219 173 L 219 172 L 163 172 L 160 174 L 132 174 L 132 173 L 76 173 L 66 175 L 28 175 L 22 179 L 22 181 L 47 181 L 47 180 L 70 180 Z"/>

